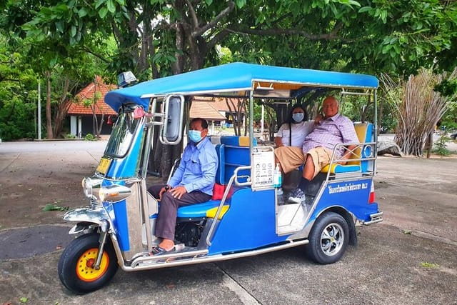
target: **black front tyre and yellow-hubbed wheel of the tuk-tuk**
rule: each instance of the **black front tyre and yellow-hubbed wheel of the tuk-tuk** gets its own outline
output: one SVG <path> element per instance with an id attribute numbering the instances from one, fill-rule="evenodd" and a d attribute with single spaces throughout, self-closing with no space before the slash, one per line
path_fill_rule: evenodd
<path id="1" fill-rule="evenodd" d="M 111 241 L 106 241 L 100 268 L 93 265 L 99 252 L 99 234 L 79 236 L 71 241 L 59 260 L 59 278 L 75 294 L 85 294 L 101 288 L 116 274 L 117 261 Z"/>

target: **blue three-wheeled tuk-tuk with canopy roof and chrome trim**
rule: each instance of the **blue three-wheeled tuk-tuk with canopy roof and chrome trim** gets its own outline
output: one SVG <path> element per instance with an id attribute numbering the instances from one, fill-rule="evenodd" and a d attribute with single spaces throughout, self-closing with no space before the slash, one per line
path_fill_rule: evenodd
<path id="1" fill-rule="evenodd" d="M 363 74 L 232 63 L 144 81 L 110 91 L 105 102 L 118 118 L 94 175 L 82 181 L 89 205 L 68 211 L 65 221 L 77 237 L 59 260 L 67 289 L 84 294 L 124 271 L 237 259 L 303 246 L 319 264 L 338 261 L 357 244 L 356 226 L 383 220 L 375 201 L 376 89 Z M 273 185 L 273 146 L 254 136 L 253 103 L 293 103 L 314 91 L 339 91 L 374 104 L 373 122 L 354 123 L 359 143 L 346 165 L 336 159 L 313 179 L 311 204 L 284 201 Z M 248 136 L 211 136 L 219 165 L 220 198 L 182 206 L 175 244 L 179 251 L 153 255 L 160 203 L 147 191 L 154 135 L 163 144 L 186 139 L 184 116 L 195 96 L 248 101 Z M 346 144 L 347 145 L 347 144 Z M 344 146 L 346 147 L 346 146 Z M 335 147 L 335 150 L 338 147 Z"/>

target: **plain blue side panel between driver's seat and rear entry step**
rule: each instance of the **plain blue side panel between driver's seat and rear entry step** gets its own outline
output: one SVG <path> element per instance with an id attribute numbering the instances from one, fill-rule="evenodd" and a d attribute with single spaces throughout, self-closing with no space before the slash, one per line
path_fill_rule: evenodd
<path id="1" fill-rule="evenodd" d="M 256 249 L 285 241 L 276 235 L 274 190 L 238 189 L 231 197 L 229 211 L 211 239 L 209 255 Z"/>

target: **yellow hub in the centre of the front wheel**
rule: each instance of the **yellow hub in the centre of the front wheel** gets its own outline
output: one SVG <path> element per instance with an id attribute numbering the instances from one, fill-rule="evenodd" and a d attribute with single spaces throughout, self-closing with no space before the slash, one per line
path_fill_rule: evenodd
<path id="1" fill-rule="evenodd" d="M 109 258 L 105 251 L 101 256 L 100 269 L 94 269 L 98 252 L 99 249 L 92 248 L 79 256 L 78 262 L 76 263 L 76 275 L 81 281 L 95 281 L 103 276 L 106 269 L 108 269 Z"/>

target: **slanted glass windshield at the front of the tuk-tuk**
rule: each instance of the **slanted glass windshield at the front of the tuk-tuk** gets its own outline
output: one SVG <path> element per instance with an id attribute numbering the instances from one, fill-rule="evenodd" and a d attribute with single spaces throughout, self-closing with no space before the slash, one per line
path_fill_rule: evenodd
<path id="1" fill-rule="evenodd" d="M 124 110 L 126 109 L 124 108 Z M 129 110 L 133 109 L 130 108 Z M 119 114 L 109 137 L 108 144 L 106 145 L 105 155 L 114 157 L 125 156 L 140 120 L 141 118 L 134 118 L 134 111 Z"/>

